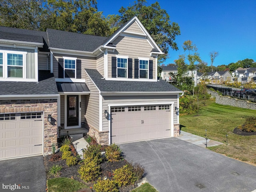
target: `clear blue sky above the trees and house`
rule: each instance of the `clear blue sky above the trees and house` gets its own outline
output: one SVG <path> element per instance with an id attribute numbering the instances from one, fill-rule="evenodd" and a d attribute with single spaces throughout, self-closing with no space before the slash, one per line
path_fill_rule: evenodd
<path id="1" fill-rule="evenodd" d="M 119 14 L 121 6 L 134 0 L 97 0 L 103 15 Z M 156 0 L 147 0 L 150 5 Z M 246 58 L 256 62 L 256 0 L 158 0 L 172 22 L 180 26 L 178 51 L 170 49 L 164 64 L 174 63 L 183 54 L 182 44 L 192 40 L 201 59 L 210 66 L 209 52 L 218 51 L 214 66 Z"/>

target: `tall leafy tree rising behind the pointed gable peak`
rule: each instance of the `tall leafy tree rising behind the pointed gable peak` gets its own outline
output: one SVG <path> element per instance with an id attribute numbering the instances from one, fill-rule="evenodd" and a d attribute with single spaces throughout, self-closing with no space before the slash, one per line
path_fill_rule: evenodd
<path id="1" fill-rule="evenodd" d="M 127 8 L 122 6 L 119 12 L 121 14 L 120 24 L 124 24 L 135 15 L 142 22 L 156 44 L 165 53 L 159 56 L 158 64 L 168 58 L 169 46 L 174 50 L 178 50 L 174 40 L 177 35 L 180 35 L 180 27 L 177 23 L 171 22 L 170 16 L 166 10 L 160 7 L 158 2 L 147 6 L 146 0 L 137 0 Z"/>

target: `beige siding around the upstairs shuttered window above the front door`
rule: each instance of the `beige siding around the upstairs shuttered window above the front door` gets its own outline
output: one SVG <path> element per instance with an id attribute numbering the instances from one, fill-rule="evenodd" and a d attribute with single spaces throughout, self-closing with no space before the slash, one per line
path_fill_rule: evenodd
<path id="1" fill-rule="evenodd" d="M 84 68 L 88 69 L 96 69 L 96 58 L 94 57 L 86 57 L 86 56 L 76 56 L 76 55 L 62 55 L 62 54 L 54 54 L 53 57 L 53 73 L 54 77 L 58 78 L 58 59 L 63 57 L 74 57 L 81 60 L 81 75 L 82 79 L 85 78 Z"/>

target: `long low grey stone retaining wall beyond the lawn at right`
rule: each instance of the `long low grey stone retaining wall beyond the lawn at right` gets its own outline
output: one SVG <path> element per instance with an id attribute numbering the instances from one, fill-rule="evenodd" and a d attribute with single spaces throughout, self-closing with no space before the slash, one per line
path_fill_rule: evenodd
<path id="1" fill-rule="evenodd" d="M 228 96 L 217 95 L 215 102 L 221 105 L 230 105 L 234 107 L 256 110 L 256 103 L 252 103 L 249 101 L 244 101 L 236 98 L 231 98 Z"/>

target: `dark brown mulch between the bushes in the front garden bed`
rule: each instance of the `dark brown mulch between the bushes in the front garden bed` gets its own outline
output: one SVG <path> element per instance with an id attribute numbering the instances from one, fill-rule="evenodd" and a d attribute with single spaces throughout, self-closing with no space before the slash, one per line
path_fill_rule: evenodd
<path id="1" fill-rule="evenodd" d="M 61 157 L 62 156 L 62 152 L 57 152 L 54 155 Z M 57 158 L 58 160 L 56 160 L 56 161 L 50 161 L 52 156 L 53 155 L 48 155 L 48 156 L 44 157 L 44 168 L 45 168 L 45 171 L 46 171 L 47 179 L 54 178 L 54 176 L 51 176 L 49 174 L 50 168 L 52 166 L 54 166 L 54 165 L 60 165 L 60 166 L 62 166 L 60 177 L 73 178 L 74 180 L 78 180 L 78 181 L 86 184 L 89 187 L 93 186 L 94 183 L 92 183 L 92 182 L 86 183 L 86 182 L 84 182 L 80 178 L 80 175 L 78 174 L 78 170 L 80 168 L 80 164 L 79 163 L 77 165 L 75 165 L 75 166 L 70 166 L 69 167 L 69 166 L 66 165 L 66 160 L 62 160 L 61 158 L 59 158 L 59 159 Z M 102 164 L 100 164 L 100 167 L 102 169 L 102 174 L 100 175 L 100 177 L 103 178 L 104 176 L 106 176 L 109 179 L 112 179 L 113 171 L 116 170 L 117 168 L 121 168 L 125 164 L 127 164 L 126 160 L 123 160 L 123 161 L 120 161 L 120 162 L 107 162 L 107 161 L 104 161 Z M 119 188 L 119 192 L 130 192 L 130 190 L 136 188 L 137 186 L 138 186 L 137 184 L 124 186 L 124 187 Z"/>

